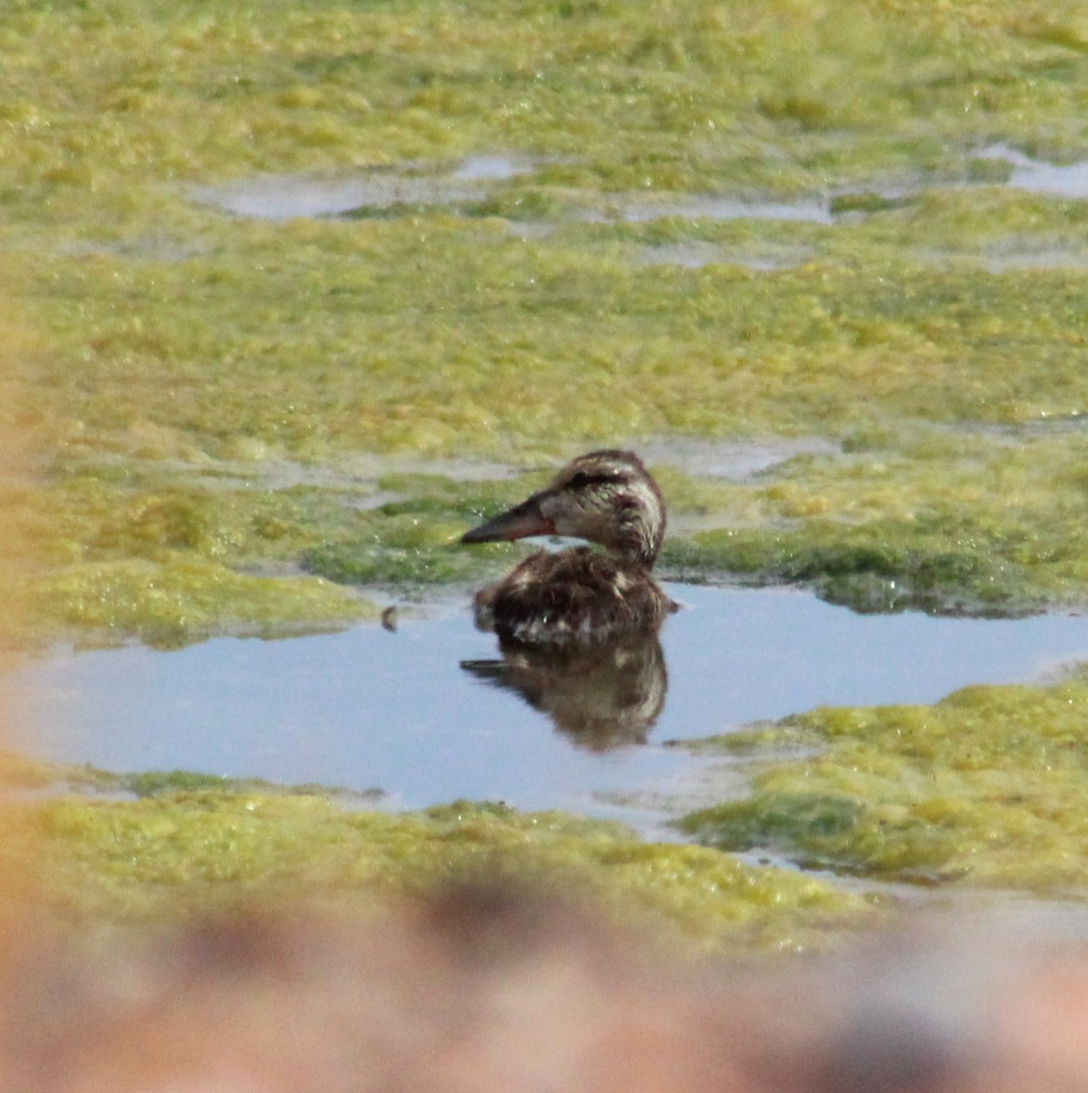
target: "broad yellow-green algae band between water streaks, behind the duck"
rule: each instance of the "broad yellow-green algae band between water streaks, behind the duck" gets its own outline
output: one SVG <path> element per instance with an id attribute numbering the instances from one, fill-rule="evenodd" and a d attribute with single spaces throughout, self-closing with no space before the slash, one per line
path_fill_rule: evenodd
<path id="1" fill-rule="evenodd" d="M 57 343 L 37 406 L 67 451 L 139 455 L 151 428 L 213 456 L 248 440 L 306 459 L 524 457 L 603 435 L 842 435 L 1086 406 L 1083 270 L 992 275 L 885 250 L 646 268 L 438 213 L 231 234 L 229 251 L 150 268 L 35 256 L 33 307 Z"/>

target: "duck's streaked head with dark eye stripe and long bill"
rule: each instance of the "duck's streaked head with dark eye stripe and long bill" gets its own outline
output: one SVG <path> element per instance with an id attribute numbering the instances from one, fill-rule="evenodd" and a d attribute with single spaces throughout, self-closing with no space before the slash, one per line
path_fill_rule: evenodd
<path id="1" fill-rule="evenodd" d="M 590 451 L 539 493 L 466 532 L 461 542 L 526 536 L 586 539 L 648 569 L 665 538 L 665 501 L 634 453 Z"/>

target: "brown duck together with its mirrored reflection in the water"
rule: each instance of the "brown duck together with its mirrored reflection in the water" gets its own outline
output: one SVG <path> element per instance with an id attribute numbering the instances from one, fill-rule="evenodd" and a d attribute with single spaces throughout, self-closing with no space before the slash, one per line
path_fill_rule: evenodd
<path id="1" fill-rule="evenodd" d="M 651 576 L 665 501 L 631 451 L 590 451 L 543 490 L 468 531 L 465 543 L 572 536 L 605 550 L 537 551 L 476 595 L 476 624 L 501 661 L 464 667 L 520 692 L 594 748 L 645 740 L 665 701 L 657 632 L 677 610 Z"/>

